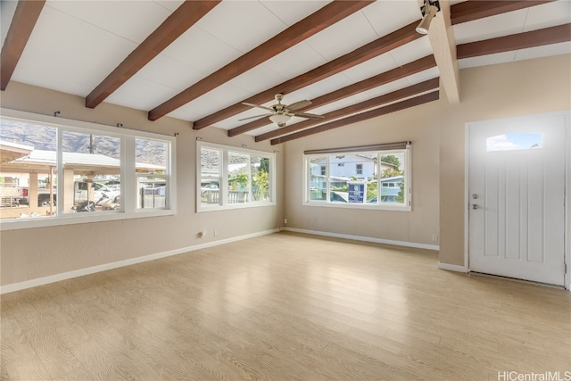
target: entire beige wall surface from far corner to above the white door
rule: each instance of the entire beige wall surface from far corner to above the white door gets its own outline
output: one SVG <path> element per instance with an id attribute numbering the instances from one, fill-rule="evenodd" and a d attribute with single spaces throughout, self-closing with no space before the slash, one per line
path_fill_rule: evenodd
<path id="1" fill-rule="evenodd" d="M 467 122 L 571 108 L 571 56 L 460 70 L 461 103 L 441 100 L 285 144 L 287 227 L 434 244 L 440 261 L 464 265 Z M 413 209 L 363 211 L 302 206 L 304 150 L 411 140 Z"/>

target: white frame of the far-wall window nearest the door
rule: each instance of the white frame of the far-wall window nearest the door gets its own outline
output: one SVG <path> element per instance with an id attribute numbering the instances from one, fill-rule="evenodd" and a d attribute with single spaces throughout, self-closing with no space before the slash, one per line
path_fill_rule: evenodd
<path id="1" fill-rule="evenodd" d="M 376 173 L 380 175 L 380 156 L 389 155 L 391 153 L 404 153 L 404 184 L 407 188 L 404 190 L 404 203 L 393 205 L 391 203 L 339 203 L 331 202 L 329 200 L 310 200 L 310 161 L 314 158 L 327 157 L 327 195 L 330 195 L 330 181 L 329 181 L 329 169 L 331 167 L 330 158 L 339 155 L 351 155 L 351 154 L 370 154 L 376 153 L 379 160 L 377 160 Z M 405 149 L 380 149 L 374 151 L 365 150 L 355 150 L 355 151 L 343 151 L 343 152 L 327 152 L 327 153 L 309 153 L 303 155 L 303 181 L 302 181 L 302 195 L 304 206 L 319 206 L 326 208 L 344 208 L 344 209 L 367 209 L 367 210 L 381 210 L 381 211 L 412 211 L 412 158 L 411 158 L 411 148 L 410 144 L 407 145 Z M 377 178 L 377 200 L 380 201 L 381 192 L 381 179 Z M 328 197 L 327 197 L 328 198 Z"/>

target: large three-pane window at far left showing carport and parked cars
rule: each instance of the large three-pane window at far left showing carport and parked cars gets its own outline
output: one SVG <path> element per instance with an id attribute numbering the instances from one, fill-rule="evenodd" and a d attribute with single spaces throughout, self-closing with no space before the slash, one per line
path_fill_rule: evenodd
<path id="1" fill-rule="evenodd" d="M 2 229 L 174 214 L 174 137 L 9 110 L 0 122 Z"/>

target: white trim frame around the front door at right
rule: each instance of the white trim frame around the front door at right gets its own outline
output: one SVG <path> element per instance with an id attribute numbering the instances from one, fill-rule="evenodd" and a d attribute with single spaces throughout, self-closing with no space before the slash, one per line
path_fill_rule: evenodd
<path id="1" fill-rule="evenodd" d="M 496 118 L 491 120 L 468 121 L 464 125 L 464 269 L 470 271 L 469 257 L 469 178 L 470 178 L 470 128 L 482 124 L 501 121 L 527 120 L 530 118 L 541 118 L 547 116 L 562 115 L 565 119 L 566 130 L 566 163 L 565 163 L 565 231 L 563 239 L 565 240 L 564 261 L 567 264 L 567 272 L 564 276 L 564 286 L 571 292 L 571 110 L 559 112 L 542 112 L 535 114 L 526 114 L 508 118 Z"/>

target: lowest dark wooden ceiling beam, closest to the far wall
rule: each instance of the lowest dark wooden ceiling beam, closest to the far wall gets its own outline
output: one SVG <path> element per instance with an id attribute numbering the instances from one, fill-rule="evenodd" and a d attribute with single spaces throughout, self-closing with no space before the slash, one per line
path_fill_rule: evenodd
<path id="1" fill-rule="evenodd" d="M 302 131 L 296 132 L 291 135 L 286 135 L 285 137 L 277 137 L 276 139 L 272 139 L 270 142 L 271 145 L 278 145 L 280 143 L 285 143 L 294 139 L 299 139 L 300 137 L 309 137 L 310 135 L 319 134 L 320 132 L 329 131 L 334 128 L 344 127 L 349 124 L 357 123 L 363 120 L 377 118 L 378 116 L 385 115 L 391 112 L 398 112 L 401 110 L 409 109 L 410 107 L 418 106 L 419 104 L 427 104 L 429 102 L 438 100 L 438 98 L 439 98 L 439 92 L 437 90 L 425 95 L 415 96 L 414 98 L 410 98 L 396 104 L 389 104 L 388 106 L 380 107 L 378 109 L 371 110 L 370 112 L 362 112 L 360 114 L 353 115 L 348 118 L 334 120 L 326 124 L 321 124 L 315 128 L 303 129 Z"/>

